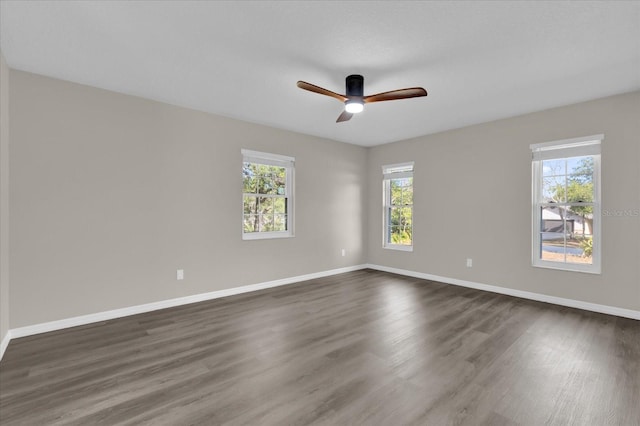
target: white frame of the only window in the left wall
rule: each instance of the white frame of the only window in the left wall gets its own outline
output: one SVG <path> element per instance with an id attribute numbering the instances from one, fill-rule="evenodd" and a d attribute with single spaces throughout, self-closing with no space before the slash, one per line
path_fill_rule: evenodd
<path id="1" fill-rule="evenodd" d="M 288 157 L 286 155 L 271 154 L 267 152 L 252 151 L 248 149 L 242 149 L 242 163 L 254 163 L 267 166 L 278 166 L 286 169 L 286 183 L 285 183 L 285 197 L 287 200 L 287 230 L 286 231 L 265 231 L 265 232 L 244 232 L 244 197 L 245 195 L 252 196 L 253 194 L 242 193 L 240 199 L 240 226 L 242 231 L 243 240 L 264 240 L 271 238 L 291 238 L 294 236 L 293 232 L 293 211 L 294 211 L 294 175 L 295 175 L 295 158 Z"/>

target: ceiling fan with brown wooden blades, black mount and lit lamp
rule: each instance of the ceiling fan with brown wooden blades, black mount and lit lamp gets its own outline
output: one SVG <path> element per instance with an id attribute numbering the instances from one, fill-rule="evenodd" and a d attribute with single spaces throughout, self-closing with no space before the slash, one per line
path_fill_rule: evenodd
<path id="1" fill-rule="evenodd" d="M 346 95 L 341 95 L 331 90 L 324 89 L 306 81 L 298 81 L 298 87 L 310 92 L 320 93 L 344 102 L 344 111 L 338 116 L 336 123 L 350 120 L 353 114 L 362 112 L 364 104 L 372 102 L 393 101 L 396 99 L 417 98 L 427 96 L 427 91 L 422 87 L 410 87 L 408 89 L 392 90 L 390 92 L 376 93 L 375 95 L 364 96 L 364 77 L 352 74 L 346 78 Z"/>

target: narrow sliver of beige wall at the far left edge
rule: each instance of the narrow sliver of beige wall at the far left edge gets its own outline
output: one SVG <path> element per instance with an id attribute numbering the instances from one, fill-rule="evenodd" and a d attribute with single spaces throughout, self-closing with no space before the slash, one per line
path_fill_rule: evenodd
<path id="1" fill-rule="evenodd" d="M 9 331 L 9 67 L 0 52 L 0 341 Z"/>

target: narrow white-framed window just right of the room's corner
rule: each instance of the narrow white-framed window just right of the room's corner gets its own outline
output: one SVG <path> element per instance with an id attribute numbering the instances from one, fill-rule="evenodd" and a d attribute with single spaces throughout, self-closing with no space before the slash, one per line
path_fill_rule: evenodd
<path id="1" fill-rule="evenodd" d="M 413 162 L 382 166 L 383 247 L 413 250 Z"/>

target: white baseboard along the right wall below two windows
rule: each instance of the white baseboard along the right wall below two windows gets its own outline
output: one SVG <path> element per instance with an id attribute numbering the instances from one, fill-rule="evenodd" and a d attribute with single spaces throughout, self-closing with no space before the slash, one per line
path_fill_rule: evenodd
<path id="1" fill-rule="evenodd" d="M 554 305 L 568 306 L 570 308 L 584 309 L 585 311 L 599 312 L 601 314 L 615 315 L 618 317 L 631 318 L 640 320 L 640 311 L 633 309 L 617 308 L 615 306 L 599 305 L 597 303 L 583 302 L 574 299 L 565 299 L 562 297 L 548 296 L 546 294 L 532 293 L 529 291 L 515 290 L 507 287 L 498 287 L 488 284 L 480 284 L 472 281 L 459 280 L 457 278 L 447 278 L 438 275 L 425 274 L 424 272 L 409 271 L 406 269 L 391 268 L 381 265 L 365 265 L 369 269 L 377 271 L 391 272 L 392 274 L 405 275 L 408 277 L 422 278 L 425 280 L 438 281 L 445 284 L 459 285 L 462 287 L 470 287 L 478 290 L 490 291 L 492 293 L 506 294 L 508 296 L 521 297 L 523 299 L 536 300 L 538 302 L 552 303 Z"/>

